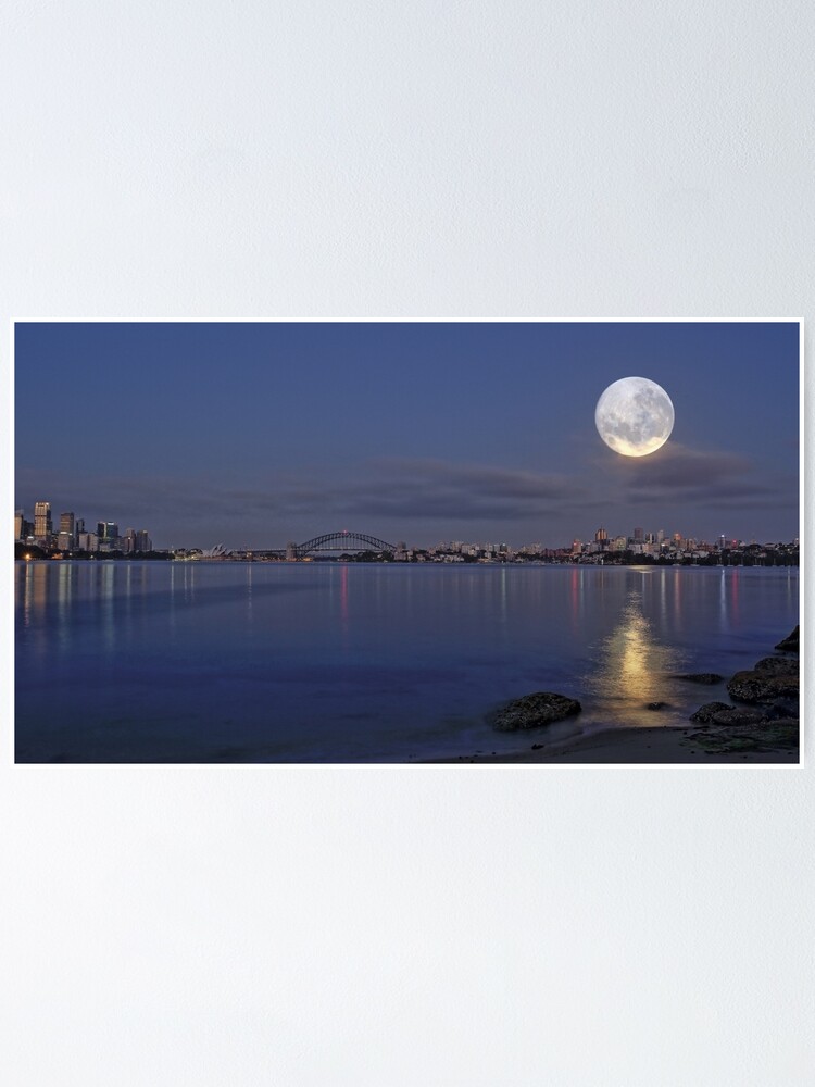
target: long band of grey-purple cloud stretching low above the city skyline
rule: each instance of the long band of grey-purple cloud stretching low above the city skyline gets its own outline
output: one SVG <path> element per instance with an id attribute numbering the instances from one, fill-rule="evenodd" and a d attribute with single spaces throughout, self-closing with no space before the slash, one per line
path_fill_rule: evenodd
<path id="1" fill-rule="evenodd" d="M 536 538 L 562 542 L 588 532 L 587 523 L 625 524 L 635 516 L 640 523 L 649 514 L 704 525 L 702 509 L 727 512 L 731 521 L 767 510 L 775 523 L 777 511 L 794 510 L 798 482 L 770 477 L 730 452 L 670 442 L 645 458 L 576 462 L 569 474 L 393 457 L 321 472 L 264 470 L 262 476 L 248 466 L 237 488 L 228 477 L 197 472 L 76 477 L 21 468 L 17 504 L 30 515 L 41 498 L 54 513 L 74 510 L 89 526 L 104 520 L 147 528 L 159 546 L 278 547 L 340 524 L 385 538 L 413 532 L 416 539 L 437 529 L 480 537 L 487 526 L 514 538 L 529 526 Z"/>

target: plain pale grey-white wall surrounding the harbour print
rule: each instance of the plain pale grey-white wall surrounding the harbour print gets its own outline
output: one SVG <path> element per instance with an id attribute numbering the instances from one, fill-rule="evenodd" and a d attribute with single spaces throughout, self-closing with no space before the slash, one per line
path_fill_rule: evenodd
<path id="1" fill-rule="evenodd" d="M 814 22 L 10 0 L 3 320 L 810 317 Z M 810 770 L 13 767 L 3 488 L 10 1083 L 808 1082 Z"/>

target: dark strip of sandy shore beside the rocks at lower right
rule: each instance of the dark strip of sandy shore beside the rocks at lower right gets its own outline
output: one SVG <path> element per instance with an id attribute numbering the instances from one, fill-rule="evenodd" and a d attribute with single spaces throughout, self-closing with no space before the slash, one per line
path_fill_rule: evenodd
<path id="1" fill-rule="evenodd" d="M 797 724 L 797 723 L 795 723 Z M 577 736 L 561 744 L 546 745 L 511 754 L 462 754 L 454 759 L 438 760 L 444 763 L 549 763 L 577 765 L 629 765 L 638 763 L 662 763 L 666 765 L 714 765 L 730 764 L 792 764 L 799 763 L 798 746 L 777 747 L 763 740 L 758 746 L 754 734 L 740 737 L 734 746 L 732 732 L 727 737 L 730 750 L 720 750 L 724 734 L 711 729 L 700 729 L 689 725 L 682 728 L 643 727 L 610 728 L 603 732 Z M 717 750 L 719 748 L 719 750 Z M 436 760 L 435 760 L 436 761 Z"/>

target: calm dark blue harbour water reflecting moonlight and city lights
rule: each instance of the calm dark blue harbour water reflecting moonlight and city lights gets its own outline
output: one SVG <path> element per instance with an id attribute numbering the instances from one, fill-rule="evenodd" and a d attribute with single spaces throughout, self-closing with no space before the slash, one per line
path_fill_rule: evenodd
<path id="1" fill-rule="evenodd" d="M 798 623 L 795 569 L 15 564 L 18 762 L 408 761 L 676 724 Z M 579 698 L 549 729 L 485 714 Z M 650 701 L 669 709 L 654 713 Z"/>

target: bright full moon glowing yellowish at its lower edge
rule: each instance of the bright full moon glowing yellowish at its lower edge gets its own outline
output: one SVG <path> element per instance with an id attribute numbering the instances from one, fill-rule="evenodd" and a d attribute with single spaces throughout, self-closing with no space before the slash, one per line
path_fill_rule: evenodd
<path id="1" fill-rule="evenodd" d="M 645 457 L 668 440 L 674 429 L 674 405 L 656 382 L 622 377 L 598 400 L 594 423 L 615 453 Z"/>

